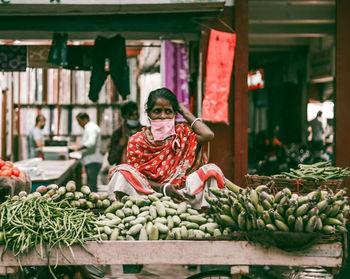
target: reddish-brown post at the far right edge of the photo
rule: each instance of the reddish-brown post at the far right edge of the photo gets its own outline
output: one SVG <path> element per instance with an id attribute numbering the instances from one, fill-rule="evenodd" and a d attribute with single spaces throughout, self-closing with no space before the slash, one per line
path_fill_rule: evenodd
<path id="1" fill-rule="evenodd" d="M 335 158 L 339 167 L 350 166 L 350 1 L 337 1 L 337 58 L 336 58 L 336 103 L 335 103 Z M 350 177 L 344 186 L 350 193 Z"/>

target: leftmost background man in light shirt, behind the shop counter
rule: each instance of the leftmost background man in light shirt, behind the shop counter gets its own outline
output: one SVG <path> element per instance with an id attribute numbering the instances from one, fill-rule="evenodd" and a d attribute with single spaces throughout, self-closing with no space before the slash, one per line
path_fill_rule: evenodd
<path id="1" fill-rule="evenodd" d="M 28 135 L 28 158 L 39 157 L 41 148 L 45 145 L 43 129 L 45 127 L 46 118 L 39 114 L 35 118 L 35 126 Z"/>

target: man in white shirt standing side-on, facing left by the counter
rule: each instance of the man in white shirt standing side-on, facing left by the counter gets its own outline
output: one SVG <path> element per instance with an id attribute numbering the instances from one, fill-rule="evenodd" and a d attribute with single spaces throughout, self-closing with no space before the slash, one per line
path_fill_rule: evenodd
<path id="1" fill-rule="evenodd" d="M 79 125 L 84 128 L 83 139 L 80 146 L 75 150 L 82 151 L 82 164 L 87 176 L 87 184 L 92 192 L 97 192 L 97 176 L 102 166 L 103 156 L 101 148 L 100 128 L 92 121 L 85 112 L 80 112 L 76 117 Z"/>

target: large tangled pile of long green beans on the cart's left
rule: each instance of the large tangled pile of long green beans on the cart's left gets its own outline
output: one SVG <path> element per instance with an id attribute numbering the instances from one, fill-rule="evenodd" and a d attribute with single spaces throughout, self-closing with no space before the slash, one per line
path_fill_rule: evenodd
<path id="1" fill-rule="evenodd" d="M 88 240 L 101 240 L 94 235 L 96 220 L 92 212 L 71 207 L 64 201 L 57 203 L 40 195 L 8 198 L 0 205 L 0 240 L 5 244 L 1 257 L 11 249 L 20 263 L 21 254 L 34 248 L 41 258 L 46 256 L 49 260 L 52 249 L 63 255 L 63 245 L 74 258 L 73 244 L 84 247 Z"/>

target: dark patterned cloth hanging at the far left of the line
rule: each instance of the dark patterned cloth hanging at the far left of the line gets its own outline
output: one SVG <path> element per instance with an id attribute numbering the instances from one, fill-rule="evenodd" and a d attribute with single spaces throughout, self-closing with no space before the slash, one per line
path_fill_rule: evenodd
<path id="1" fill-rule="evenodd" d="M 0 45 L 0 71 L 25 72 L 27 46 Z"/>

